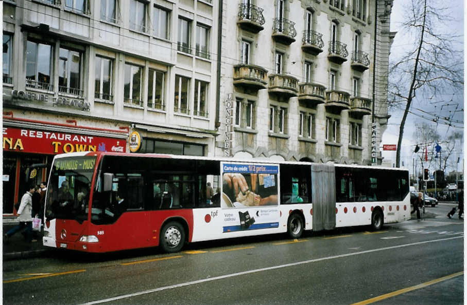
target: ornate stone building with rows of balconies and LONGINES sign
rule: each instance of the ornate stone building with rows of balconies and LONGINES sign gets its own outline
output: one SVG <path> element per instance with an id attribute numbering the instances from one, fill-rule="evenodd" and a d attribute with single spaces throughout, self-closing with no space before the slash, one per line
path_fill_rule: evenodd
<path id="1" fill-rule="evenodd" d="M 389 32 L 392 1 L 377 1 L 376 29 L 375 5 L 370 0 L 224 2 L 223 138 L 216 142 L 216 154 L 380 164 L 394 33 Z"/>

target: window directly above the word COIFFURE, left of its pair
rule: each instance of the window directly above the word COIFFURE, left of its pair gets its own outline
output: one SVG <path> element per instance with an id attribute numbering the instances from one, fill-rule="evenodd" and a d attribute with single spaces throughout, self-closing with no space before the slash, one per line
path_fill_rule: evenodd
<path id="1" fill-rule="evenodd" d="M 26 87 L 53 91 L 51 83 L 52 46 L 34 41 L 26 43 Z"/>

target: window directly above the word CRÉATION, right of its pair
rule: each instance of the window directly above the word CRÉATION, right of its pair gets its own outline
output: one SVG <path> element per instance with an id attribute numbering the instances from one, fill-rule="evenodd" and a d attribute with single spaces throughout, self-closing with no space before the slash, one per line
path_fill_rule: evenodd
<path id="1" fill-rule="evenodd" d="M 60 48 L 58 64 L 59 92 L 77 97 L 83 96 L 84 91 L 81 90 L 82 56 L 82 52 Z"/>

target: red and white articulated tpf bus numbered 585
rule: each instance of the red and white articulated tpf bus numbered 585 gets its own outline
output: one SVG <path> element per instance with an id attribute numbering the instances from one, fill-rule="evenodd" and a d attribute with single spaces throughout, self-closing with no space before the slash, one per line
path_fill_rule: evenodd
<path id="1" fill-rule="evenodd" d="M 157 154 L 55 156 L 43 243 L 85 252 L 410 218 L 404 169 Z"/>

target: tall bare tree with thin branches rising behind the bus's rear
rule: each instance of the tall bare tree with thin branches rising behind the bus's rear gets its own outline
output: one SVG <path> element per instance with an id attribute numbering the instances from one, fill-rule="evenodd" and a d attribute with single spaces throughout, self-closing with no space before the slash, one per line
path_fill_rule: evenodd
<path id="1" fill-rule="evenodd" d="M 397 142 L 397 167 L 405 122 L 416 93 L 436 97 L 446 90 L 463 88 L 462 51 L 454 48 L 453 31 L 442 33 L 442 26 L 451 20 L 448 13 L 436 0 L 411 0 L 406 7 L 403 30 L 413 37 L 414 48 L 393 63 L 389 72 L 389 102 L 405 106 Z"/>

